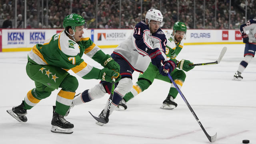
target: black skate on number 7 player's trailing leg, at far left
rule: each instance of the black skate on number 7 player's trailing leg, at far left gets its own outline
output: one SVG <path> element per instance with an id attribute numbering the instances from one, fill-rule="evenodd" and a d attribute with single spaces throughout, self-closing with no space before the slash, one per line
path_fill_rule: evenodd
<path id="1" fill-rule="evenodd" d="M 19 106 L 13 107 L 11 110 L 6 110 L 12 117 L 14 117 L 19 122 L 26 122 L 28 121 L 26 114 L 27 110 L 23 108 L 24 106 L 24 100 L 22 100 L 22 103 Z"/>

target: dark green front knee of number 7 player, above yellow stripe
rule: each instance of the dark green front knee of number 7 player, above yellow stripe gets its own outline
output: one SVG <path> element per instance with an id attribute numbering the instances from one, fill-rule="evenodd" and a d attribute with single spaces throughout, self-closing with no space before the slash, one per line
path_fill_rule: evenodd
<path id="1" fill-rule="evenodd" d="M 78 80 L 76 77 L 68 74 L 60 84 L 60 88 L 65 91 L 76 92 L 76 89 L 78 88 Z"/>

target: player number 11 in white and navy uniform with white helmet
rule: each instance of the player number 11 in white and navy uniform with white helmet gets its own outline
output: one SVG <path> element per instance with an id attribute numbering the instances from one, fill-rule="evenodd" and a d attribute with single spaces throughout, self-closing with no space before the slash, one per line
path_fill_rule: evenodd
<path id="1" fill-rule="evenodd" d="M 165 55 L 167 40 L 164 32 L 160 29 L 162 25 L 162 13 L 155 9 L 148 10 L 145 20 L 136 24 L 130 36 L 111 54 L 112 58 L 120 65 L 120 75 L 122 77 L 114 90 L 110 114 L 124 95 L 131 90 L 133 85 L 132 73 L 134 71 L 143 73 L 152 62 L 159 69 L 160 74 L 166 76 L 167 74 L 164 71 L 172 72 L 176 67 L 175 62 Z M 161 66 L 161 62 L 164 66 Z M 101 98 L 106 93 L 110 94 L 110 91 L 111 83 L 101 81 L 94 88 L 85 90 L 80 96 L 77 96 L 73 100 L 73 104 L 78 105 Z M 105 118 L 108 102 L 109 100 L 100 113 L 100 118 Z"/>

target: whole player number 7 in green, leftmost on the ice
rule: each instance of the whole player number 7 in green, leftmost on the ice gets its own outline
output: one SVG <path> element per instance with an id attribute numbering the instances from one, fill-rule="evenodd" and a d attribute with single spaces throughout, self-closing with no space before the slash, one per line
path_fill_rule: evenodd
<path id="1" fill-rule="evenodd" d="M 111 82 L 112 78 L 120 80 L 120 66 L 108 54 L 104 54 L 90 38 L 82 36 L 87 28 L 86 22 L 78 14 L 64 18 L 65 30 L 54 34 L 44 44 L 36 44 L 28 53 L 26 72 L 34 80 L 36 88 L 30 90 L 22 104 L 7 112 L 19 122 L 27 121 L 27 110 L 33 108 L 40 100 L 50 96 L 55 89 L 61 88 L 54 106 L 51 132 L 71 134 L 74 125 L 64 116 L 74 99 L 78 80 L 67 71 L 72 70 L 84 79 L 100 79 Z M 104 68 L 98 69 L 86 64 L 82 59 L 86 54 Z"/>

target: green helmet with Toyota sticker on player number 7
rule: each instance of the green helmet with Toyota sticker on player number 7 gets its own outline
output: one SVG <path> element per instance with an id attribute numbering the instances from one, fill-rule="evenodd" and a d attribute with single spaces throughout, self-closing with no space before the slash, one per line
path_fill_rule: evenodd
<path id="1" fill-rule="evenodd" d="M 66 16 L 63 20 L 63 28 L 66 28 L 67 26 L 71 26 L 74 32 L 76 32 L 76 26 L 84 26 L 84 28 L 87 29 L 84 18 L 79 14 L 70 14 Z"/>

